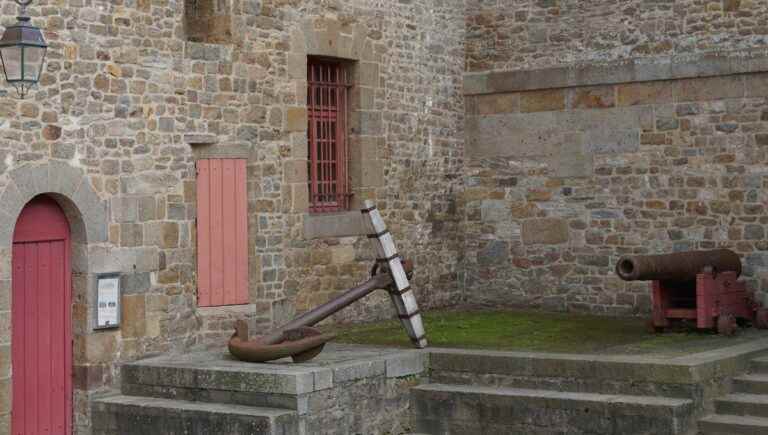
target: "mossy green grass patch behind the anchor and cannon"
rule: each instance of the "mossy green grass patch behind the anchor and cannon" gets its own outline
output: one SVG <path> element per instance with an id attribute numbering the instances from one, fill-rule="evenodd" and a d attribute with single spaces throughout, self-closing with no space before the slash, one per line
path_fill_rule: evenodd
<path id="1" fill-rule="evenodd" d="M 568 353 L 681 354 L 766 336 L 744 330 L 720 337 L 695 330 L 652 334 L 645 319 L 532 311 L 432 311 L 422 315 L 430 346 Z M 408 347 L 397 320 L 324 328 L 342 343 Z"/>

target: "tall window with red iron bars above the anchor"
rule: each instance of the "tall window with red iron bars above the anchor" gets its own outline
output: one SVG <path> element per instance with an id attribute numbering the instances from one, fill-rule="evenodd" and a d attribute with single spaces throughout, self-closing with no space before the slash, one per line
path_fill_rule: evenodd
<path id="1" fill-rule="evenodd" d="M 309 211 L 347 210 L 349 71 L 339 61 L 309 58 L 307 76 Z"/>

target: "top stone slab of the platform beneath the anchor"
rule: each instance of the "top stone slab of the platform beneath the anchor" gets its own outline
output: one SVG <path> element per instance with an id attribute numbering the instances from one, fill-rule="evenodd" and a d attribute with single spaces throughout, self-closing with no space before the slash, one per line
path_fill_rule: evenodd
<path id="1" fill-rule="evenodd" d="M 226 351 L 150 358 L 122 366 L 121 392 L 187 401 L 233 403 L 308 412 L 311 397 L 370 378 L 395 379 L 426 370 L 427 354 L 329 344 L 304 364 L 237 361 Z"/>

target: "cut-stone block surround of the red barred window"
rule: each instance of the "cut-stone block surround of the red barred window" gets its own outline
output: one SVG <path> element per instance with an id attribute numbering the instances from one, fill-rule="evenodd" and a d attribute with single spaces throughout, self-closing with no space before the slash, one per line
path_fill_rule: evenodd
<path id="1" fill-rule="evenodd" d="M 341 237 L 363 234 L 357 209 L 375 190 L 385 185 L 383 158 L 383 113 L 377 110 L 384 93 L 383 50 L 367 38 L 367 28 L 359 23 L 342 23 L 332 17 L 304 20 L 291 35 L 286 54 L 286 75 L 293 82 L 297 101 L 302 105 L 285 111 L 283 131 L 290 135 L 291 155 L 283 162 L 283 181 L 289 211 L 303 214 L 304 238 Z M 327 57 L 350 65 L 353 84 L 349 94 L 349 178 L 353 194 L 350 211 L 309 213 L 309 174 L 307 141 L 307 60 Z"/>

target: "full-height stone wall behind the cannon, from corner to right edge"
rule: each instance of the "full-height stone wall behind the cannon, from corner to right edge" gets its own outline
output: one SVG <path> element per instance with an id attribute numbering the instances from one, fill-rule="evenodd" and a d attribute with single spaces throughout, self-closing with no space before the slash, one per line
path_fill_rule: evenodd
<path id="1" fill-rule="evenodd" d="M 466 294 L 646 313 L 620 255 L 716 246 L 765 290 L 767 7 L 468 2 Z"/>

